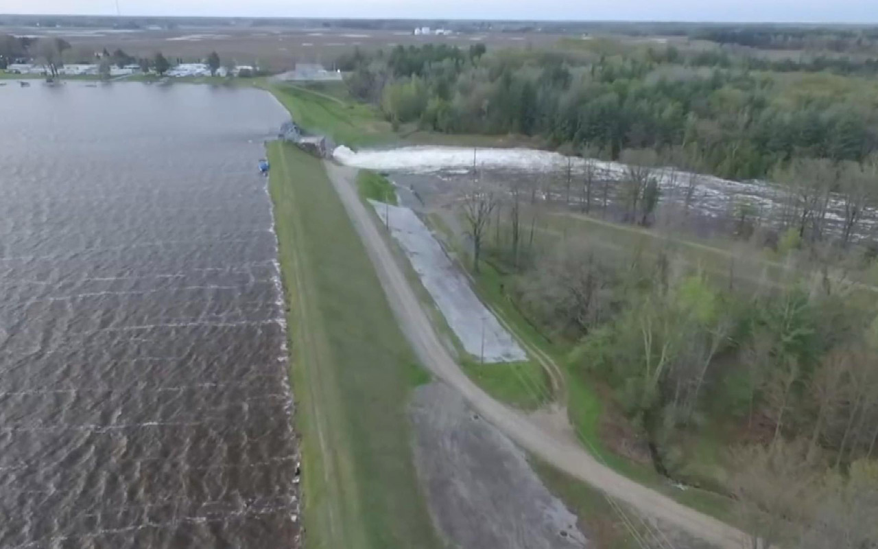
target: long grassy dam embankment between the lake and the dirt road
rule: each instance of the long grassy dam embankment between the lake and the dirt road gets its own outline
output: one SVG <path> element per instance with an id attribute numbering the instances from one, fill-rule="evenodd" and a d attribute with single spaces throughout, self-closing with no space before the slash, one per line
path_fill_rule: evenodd
<path id="1" fill-rule="evenodd" d="M 428 380 L 319 160 L 273 143 L 309 549 L 439 547 L 406 403 Z"/>

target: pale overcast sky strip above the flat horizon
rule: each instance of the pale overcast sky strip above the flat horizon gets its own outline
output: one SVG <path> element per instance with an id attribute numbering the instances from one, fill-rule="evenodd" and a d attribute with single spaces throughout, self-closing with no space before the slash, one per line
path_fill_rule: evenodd
<path id="1" fill-rule="evenodd" d="M 123 15 L 302 18 L 878 21 L 878 0 L 119 0 Z M 0 13 L 106 14 L 115 0 L 0 0 Z"/>

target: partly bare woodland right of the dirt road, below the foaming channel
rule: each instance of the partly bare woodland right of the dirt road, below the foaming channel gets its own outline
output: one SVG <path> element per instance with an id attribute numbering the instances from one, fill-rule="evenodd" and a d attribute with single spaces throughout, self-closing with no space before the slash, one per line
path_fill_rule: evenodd
<path id="1" fill-rule="evenodd" d="M 629 178 L 614 196 L 643 196 L 650 178 Z M 464 192 L 488 197 L 485 179 Z M 738 524 L 763 542 L 878 541 L 846 515 L 878 512 L 874 261 L 800 239 L 781 261 L 745 246 L 714 263 L 658 235 L 607 242 L 552 228 L 564 210 L 539 197 L 563 196 L 555 181 L 493 181 L 493 213 L 468 234 L 507 299 L 566 349 L 568 375 L 608 387 L 637 433 L 619 444 L 645 443 L 659 473 L 735 497 Z M 585 181 L 573 192 L 587 196 Z M 641 206 L 623 207 L 640 222 Z M 693 454 L 702 438 L 717 444 L 709 472 Z"/>

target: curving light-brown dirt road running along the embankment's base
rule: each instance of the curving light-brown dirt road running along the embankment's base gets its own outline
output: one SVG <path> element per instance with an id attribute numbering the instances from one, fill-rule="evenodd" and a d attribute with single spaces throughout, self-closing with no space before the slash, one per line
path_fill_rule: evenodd
<path id="1" fill-rule="evenodd" d="M 601 465 L 574 440 L 543 430 L 527 415 L 495 401 L 460 369 L 436 335 L 433 325 L 409 285 L 396 257 L 379 232 L 371 213 L 356 193 L 356 169 L 326 162 L 327 174 L 347 210 L 356 232 L 375 264 L 378 278 L 390 300 L 403 333 L 421 362 L 438 378 L 455 387 L 472 408 L 503 431 L 524 450 L 561 471 L 587 482 L 616 500 L 625 502 L 646 516 L 652 516 L 687 531 L 695 538 L 725 549 L 747 546 L 748 538 L 711 516 L 687 508 L 666 495 L 646 488 L 607 466 Z"/>

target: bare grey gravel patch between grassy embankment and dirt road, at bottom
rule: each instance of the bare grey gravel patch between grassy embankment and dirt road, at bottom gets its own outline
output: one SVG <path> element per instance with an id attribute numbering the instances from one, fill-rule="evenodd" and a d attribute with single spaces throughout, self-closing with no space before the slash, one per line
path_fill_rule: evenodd
<path id="1" fill-rule="evenodd" d="M 410 406 L 418 476 L 435 524 L 461 549 L 593 546 L 524 452 L 435 381 Z"/>

